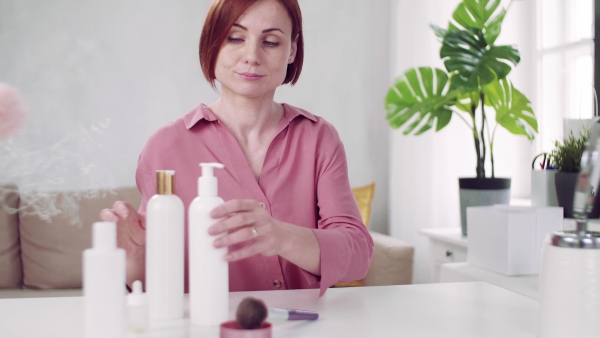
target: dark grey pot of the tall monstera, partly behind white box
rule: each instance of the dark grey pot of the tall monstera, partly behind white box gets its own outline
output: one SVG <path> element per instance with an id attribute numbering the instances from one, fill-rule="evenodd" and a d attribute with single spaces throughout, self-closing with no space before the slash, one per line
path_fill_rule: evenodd
<path id="1" fill-rule="evenodd" d="M 467 208 L 510 203 L 510 178 L 459 178 L 460 225 L 467 236 Z"/>

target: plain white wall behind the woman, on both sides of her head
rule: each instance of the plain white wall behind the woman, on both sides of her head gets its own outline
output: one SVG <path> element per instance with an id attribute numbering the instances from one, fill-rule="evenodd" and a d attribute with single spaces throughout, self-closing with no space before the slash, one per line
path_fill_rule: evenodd
<path id="1" fill-rule="evenodd" d="M 390 1 L 300 2 L 305 67 L 277 99 L 337 127 L 351 184 L 377 182 L 372 228 L 387 232 Z M 148 136 L 217 97 L 197 58 L 209 4 L 2 0 L 0 82 L 20 90 L 29 115 L 0 140 L 0 181 L 38 190 L 134 184 Z"/>

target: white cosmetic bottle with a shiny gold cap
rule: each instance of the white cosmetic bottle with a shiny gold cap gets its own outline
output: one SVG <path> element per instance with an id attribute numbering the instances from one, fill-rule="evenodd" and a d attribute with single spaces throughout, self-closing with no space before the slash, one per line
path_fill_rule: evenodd
<path id="1" fill-rule="evenodd" d="M 175 172 L 156 171 L 156 195 L 146 207 L 146 298 L 151 321 L 183 318 L 184 207 Z"/>

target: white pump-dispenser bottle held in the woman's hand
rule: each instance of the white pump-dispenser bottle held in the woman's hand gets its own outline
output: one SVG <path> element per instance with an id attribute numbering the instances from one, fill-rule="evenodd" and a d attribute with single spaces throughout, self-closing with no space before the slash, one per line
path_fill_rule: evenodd
<path id="1" fill-rule="evenodd" d="M 213 246 L 215 237 L 208 228 L 218 219 L 210 212 L 223 203 L 218 195 L 218 182 L 213 168 L 224 168 L 220 163 L 200 163 L 202 176 L 198 178 L 198 197 L 189 206 L 189 277 L 190 320 L 203 326 L 219 325 L 229 317 L 229 265 L 224 256 L 226 248 Z"/>

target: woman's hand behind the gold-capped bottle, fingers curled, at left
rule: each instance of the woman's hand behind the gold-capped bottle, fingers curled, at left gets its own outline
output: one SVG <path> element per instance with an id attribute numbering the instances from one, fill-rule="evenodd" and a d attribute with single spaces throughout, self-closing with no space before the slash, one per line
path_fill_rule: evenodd
<path id="1" fill-rule="evenodd" d="M 100 219 L 117 223 L 117 246 L 127 254 L 127 285 L 141 280 L 145 285 L 146 218 L 131 204 L 116 201 L 112 208 L 102 209 Z"/>

